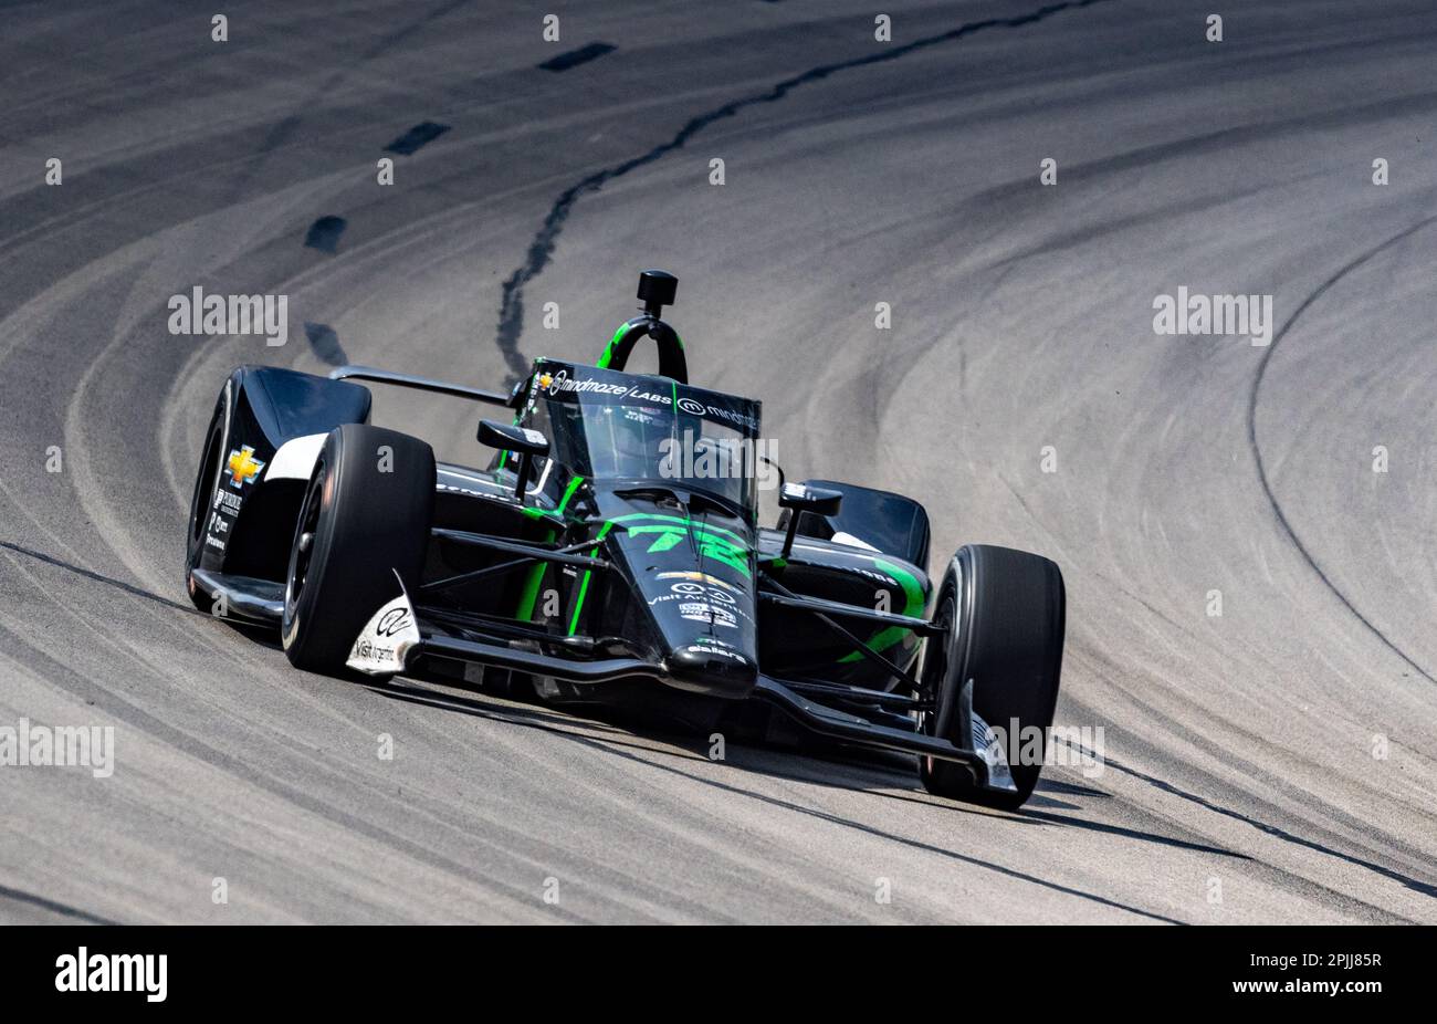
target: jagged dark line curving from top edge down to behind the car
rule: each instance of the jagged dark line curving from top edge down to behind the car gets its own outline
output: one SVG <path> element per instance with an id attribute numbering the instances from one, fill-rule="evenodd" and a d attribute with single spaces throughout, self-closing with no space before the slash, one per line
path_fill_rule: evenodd
<path id="1" fill-rule="evenodd" d="M 545 217 L 539 232 L 529 243 L 529 252 L 525 255 L 525 262 L 514 269 L 507 280 L 504 280 L 503 298 L 499 306 L 499 331 L 494 338 L 494 344 L 499 347 L 499 351 L 504 357 L 504 362 L 509 367 L 509 383 L 513 383 L 529 370 L 529 361 L 525 358 L 523 352 L 519 351 L 519 337 L 525 326 L 525 285 L 543 273 L 543 269 L 549 265 L 549 260 L 553 257 L 555 244 L 559 242 L 559 234 L 563 232 L 563 221 L 568 220 L 569 213 L 573 210 L 573 204 L 579 200 L 579 196 L 598 191 L 605 186 L 605 183 L 622 177 L 639 167 L 645 167 L 647 164 L 652 164 L 675 150 L 684 148 L 684 145 L 688 144 L 688 140 L 717 121 L 730 118 L 749 106 L 775 104 L 787 96 L 793 89 L 813 82 L 821 82 L 836 72 L 898 60 L 900 58 L 915 53 L 917 50 L 938 46 L 941 43 L 950 43 L 956 39 L 963 39 L 964 36 L 971 36 L 973 33 L 983 32 L 986 29 L 1019 29 L 1026 24 L 1033 24 L 1035 22 L 1042 22 L 1043 19 L 1052 17 L 1053 14 L 1065 10 L 1092 7 L 1094 4 L 1106 1 L 1108 0 L 1068 0 L 1066 3 L 1046 4 L 1027 14 L 1017 14 L 1015 17 L 990 17 L 981 22 L 967 22 L 956 29 L 941 32 L 935 36 L 924 36 L 923 39 L 915 39 L 914 42 L 904 43 L 902 46 L 888 46 L 878 53 L 869 53 L 862 58 L 810 68 L 806 72 L 777 82 L 763 92 L 756 92 L 750 96 L 730 101 L 723 106 L 716 106 L 711 111 L 706 111 L 704 114 L 690 118 L 688 122 L 685 122 L 684 127 L 680 128 L 678 132 L 675 132 L 667 142 L 655 145 L 652 150 L 638 157 L 632 157 L 619 164 L 614 164 L 612 167 L 595 171 L 593 174 L 589 174 L 581 181 L 569 186 L 553 201 L 553 206 L 549 207 L 549 214 Z"/>

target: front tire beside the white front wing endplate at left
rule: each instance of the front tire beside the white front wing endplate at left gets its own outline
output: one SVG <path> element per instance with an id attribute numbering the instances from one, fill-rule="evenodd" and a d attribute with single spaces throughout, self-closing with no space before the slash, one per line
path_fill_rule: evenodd
<path id="1" fill-rule="evenodd" d="M 415 593 L 433 515 L 428 444 L 358 423 L 329 431 L 300 506 L 285 582 L 280 640 L 295 667 L 346 675 L 355 639 L 399 595 L 399 580 Z"/>

